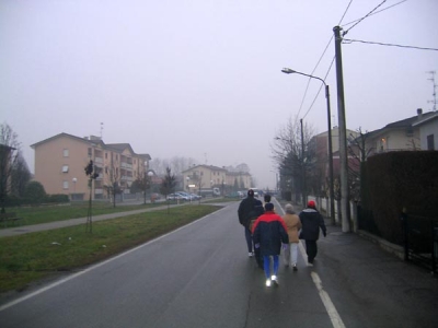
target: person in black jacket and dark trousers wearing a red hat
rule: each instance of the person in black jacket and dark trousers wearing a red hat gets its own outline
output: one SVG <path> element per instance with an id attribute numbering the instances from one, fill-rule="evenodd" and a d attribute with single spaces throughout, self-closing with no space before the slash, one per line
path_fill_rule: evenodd
<path id="1" fill-rule="evenodd" d="M 313 266 L 313 260 L 318 254 L 316 241 L 320 237 L 320 229 L 324 237 L 327 234 L 324 218 L 316 210 L 316 204 L 313 200 L 309 200 L 308 207 L 301 211 L 299 216 L 302 224 L 300 239 L 304 239 L 308 263 Z"/>

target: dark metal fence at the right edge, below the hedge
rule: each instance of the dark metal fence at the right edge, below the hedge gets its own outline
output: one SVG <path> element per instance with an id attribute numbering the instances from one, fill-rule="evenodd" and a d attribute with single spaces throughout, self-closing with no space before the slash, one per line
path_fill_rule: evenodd
<path id="1" fill-rule="evenodd" d="M 402 214 L 404 259 L 416 262 L 434 274 L 438 265 L 438 219 Z"/>

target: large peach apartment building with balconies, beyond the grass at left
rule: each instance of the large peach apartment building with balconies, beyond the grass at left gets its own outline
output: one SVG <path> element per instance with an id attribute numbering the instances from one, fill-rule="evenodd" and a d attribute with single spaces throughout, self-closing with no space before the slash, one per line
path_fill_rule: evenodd
<path id="1" fill-rule="evenodd" d="M 35 180 L 47 194 L 66 194 L 72 200 L 107 199 L 105 186 L 117 183 L 128 194 L 135 179 L 149 168 L 149 154 L 137 154 L 129 143 L 105 144 L 100 137 L 59 133 L 31 145 L 35 150 Z M 89 187 L 85 166 L 93 161 L 99 177 Z"/>

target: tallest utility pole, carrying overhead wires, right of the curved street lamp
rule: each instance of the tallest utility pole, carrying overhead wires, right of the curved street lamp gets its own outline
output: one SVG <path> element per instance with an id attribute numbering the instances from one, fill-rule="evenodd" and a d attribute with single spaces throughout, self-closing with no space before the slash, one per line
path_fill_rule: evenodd
<path id="1" fill-rule="evenodd" d="M 333 27 L 335 34 L 337 115 L 339 124 L 339 160 L 341 160 L 341 213 L 343 232 L 350 231 L 349 190 L 348 190 L 348 157 L 347 157 L 347 125 L 345 118 L 344 78 L 341 51 L 341 27 Z"/>

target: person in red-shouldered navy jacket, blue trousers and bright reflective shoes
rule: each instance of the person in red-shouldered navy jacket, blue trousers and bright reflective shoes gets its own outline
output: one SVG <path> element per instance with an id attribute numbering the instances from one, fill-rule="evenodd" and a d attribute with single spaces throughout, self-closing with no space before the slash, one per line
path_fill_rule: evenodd
<path id="1" fill-rule="evenodd" d="M 254 247 L 260 247 L 263 256 L 263 266 L 266 276 L 266 286 L 272 283 L 278 285 L 278 256 L 281 249 L 289 244 L 287 227 L 281 216 L 274 212 L 274 204 L 267 202 L 265 204 L 265 213 L 258 216 L 253 226 Z M 273 276 L 270 276 L 270 257 L 273 257 Z"/>

